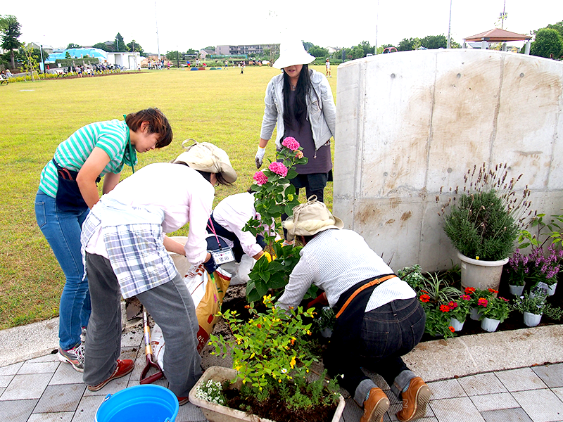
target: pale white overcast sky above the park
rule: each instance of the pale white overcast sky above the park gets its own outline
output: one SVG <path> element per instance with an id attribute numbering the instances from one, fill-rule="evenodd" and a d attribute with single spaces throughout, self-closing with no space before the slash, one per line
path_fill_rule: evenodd
<path id="1" fill-rule="evenodd" d="M 287 37 L 321 47 L 397 45 L 411 37 L 447 37 L 448 28 L 462 44 L 463 38 L 500 27 L 503 8 L 503 28 L 519 34 L 563 20 L 563 0 L 30 0 L 6 1 L 0 14 L 18 18 L 19 40 L 25 43 L 91 46 L 119 32 L 126 43 L 134 39 L 145 52 L 165 54 Z"/>

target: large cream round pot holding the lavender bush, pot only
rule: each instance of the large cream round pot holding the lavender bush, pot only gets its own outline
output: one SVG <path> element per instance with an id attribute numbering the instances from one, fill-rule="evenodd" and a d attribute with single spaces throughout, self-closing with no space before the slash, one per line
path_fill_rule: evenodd
<path id="1" fill-rule="evenodd" d="M 502 267 L 508 262 L 508 258 L 499 261 L 482 261 L 466 257 L 460 252 L 457 252 L 457 257 L 462 261 L 463 287 L 498 290 Z"/>

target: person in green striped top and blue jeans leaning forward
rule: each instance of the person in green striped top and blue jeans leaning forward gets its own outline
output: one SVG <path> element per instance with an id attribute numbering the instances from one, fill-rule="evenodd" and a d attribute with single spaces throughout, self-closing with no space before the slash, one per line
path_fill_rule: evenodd
<path id="1" fill-rule="evenodd" d="M 58 358 L 84 370 L 82 328 L 88 324 L 90 298 L 80 252 L 80 231 L 88 212 L 103 193 L 120 180 L 125 164 L 133 167 L 137 153 L 172 142 L 172 128 L 156 108 L 131 113 L 123 120 L 87 124 L 56 149 L 39 181 L 35 198 L 37 224 L 65 274 L 59 307 Z"/>

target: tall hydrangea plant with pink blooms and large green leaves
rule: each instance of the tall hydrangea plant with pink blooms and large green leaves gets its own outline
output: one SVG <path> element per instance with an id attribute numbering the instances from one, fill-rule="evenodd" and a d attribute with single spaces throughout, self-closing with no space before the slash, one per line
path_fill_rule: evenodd
<path id="1" fill-rule="evenodd" d="M 302 150 L 298 141 L 289 136 L 281 142 L 277 161 L 270 162 L 267 169 L 254 174 L 255 184 L 251 188 L 255 192 L 254 207 L 260 219 L 249 220 L 243 230 L 253 235 L 263 234 L 273 259 L 269 262 L 265 256 L 261 257 L 249 274 L 251 281 L 246 285 L 248 302 L 260 300 L 270 289 L 283 288 L 299 260 L 299 248 L 277 243 L 271 233 L 281 231 L 281 214 L 293 215 L 293 207 L 299 203 L 295 186 L 289 184 L 289 180 L 297 176 L 296 165 L 308 162 Z M 265 226 L 267 230 L 264 231 Z"/>

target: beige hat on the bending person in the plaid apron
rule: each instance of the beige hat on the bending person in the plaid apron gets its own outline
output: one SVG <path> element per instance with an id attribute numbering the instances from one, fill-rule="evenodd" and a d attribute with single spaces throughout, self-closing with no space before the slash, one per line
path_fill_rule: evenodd
<path id="1" fill-rule="evenodd" d="M 221 173 L 222 177 L 228 183 L 236 181 L 236 172 L 231 166 L 229 155 L 218 146 L 209 142 L 196 142 L 186 147 L 184 144 L 193 139 L 186 139 L 182 142 L 182 146 L 186 150 L 177 156 L 173 162 L 185 162 L 194 170 L 202 172 Z"/>

